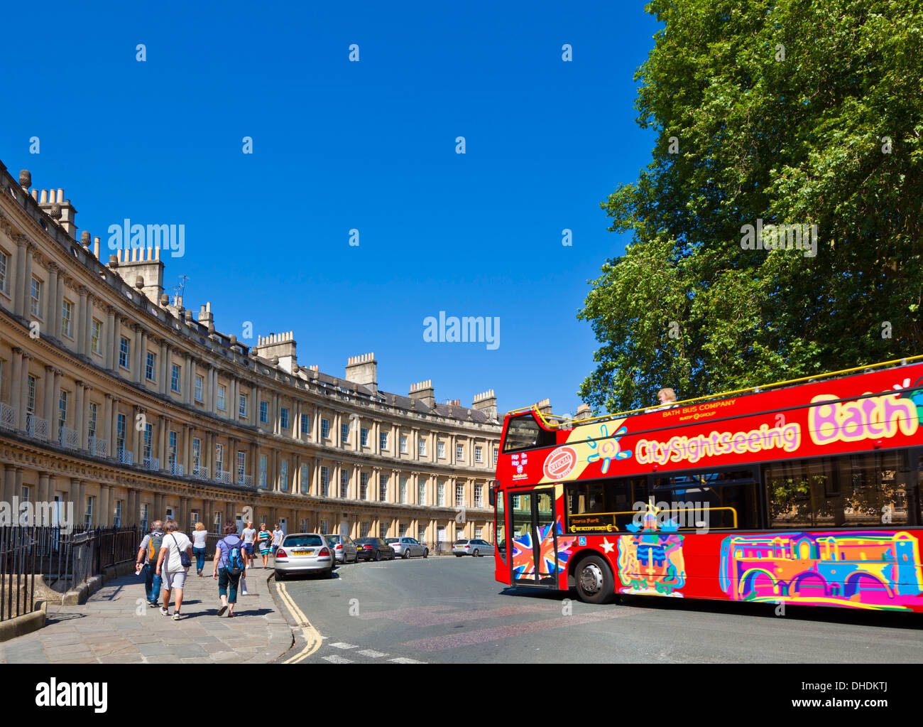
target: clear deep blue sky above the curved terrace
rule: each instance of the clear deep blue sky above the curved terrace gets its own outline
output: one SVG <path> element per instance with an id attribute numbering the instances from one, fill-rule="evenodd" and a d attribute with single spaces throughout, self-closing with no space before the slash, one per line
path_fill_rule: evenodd
<path id="1" fill-rule="evenodd" d="M 332 375 L 374 351 L 379 387 L 398 394 L 432 379 L 440 401 L 492 388 L 501 411 L 579 406 L 596 343 L 576 313 L 629 241 L 599 202 L 653 145 L 632 108 L 659 27 L 642 4 L 18 3 L 4 16 L 0 159 L 64 188 L 103 244 L 126 217 L 185 224 L 164 286 L 186 274 L 186 307 L 210 301 L 220 331 L 294 331 L 299 363 Z M 426 343 L 440 310 L 499 318 L 499 347 Z"/>

